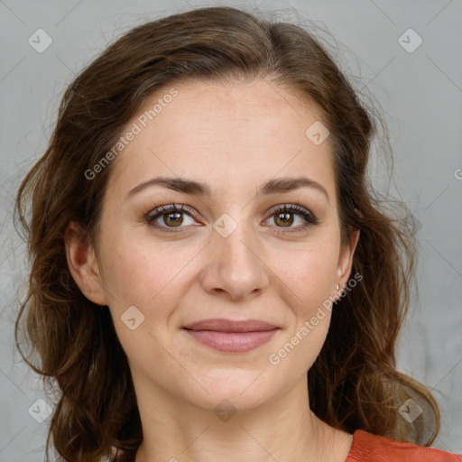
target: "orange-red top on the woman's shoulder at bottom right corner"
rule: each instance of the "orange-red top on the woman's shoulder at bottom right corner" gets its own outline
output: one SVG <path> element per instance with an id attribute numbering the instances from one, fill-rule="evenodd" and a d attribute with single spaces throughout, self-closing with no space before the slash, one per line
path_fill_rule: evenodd
<path id="1" fill-rule="evenodd" d="M 356 430 L 345 462 L 462 462 L 462 456 Z"/>

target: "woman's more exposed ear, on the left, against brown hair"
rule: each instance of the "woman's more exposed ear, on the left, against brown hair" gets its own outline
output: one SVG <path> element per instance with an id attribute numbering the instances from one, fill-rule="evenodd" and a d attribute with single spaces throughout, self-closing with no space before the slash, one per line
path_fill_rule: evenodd
<path id="1" fill-rule="evenodd" d="M 64 234 L 69 271 L 88 300 L 107 305 L 96 254 L 79 226 L 71 221 Z"/>

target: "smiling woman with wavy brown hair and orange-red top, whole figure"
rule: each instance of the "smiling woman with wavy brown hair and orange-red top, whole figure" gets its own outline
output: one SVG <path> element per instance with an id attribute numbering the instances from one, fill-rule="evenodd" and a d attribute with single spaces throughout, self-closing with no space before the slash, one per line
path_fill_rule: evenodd
<path id="1" fill-rule="evenodd" d="M 437 404 L 395 369 L 414 245 L 368 182 L 375 132 L 309 32 L 234 8 L 80 73 L 16 203 L 16 335 L 59 385 L 62 460 L 461 460 L 424 448 Z"/>

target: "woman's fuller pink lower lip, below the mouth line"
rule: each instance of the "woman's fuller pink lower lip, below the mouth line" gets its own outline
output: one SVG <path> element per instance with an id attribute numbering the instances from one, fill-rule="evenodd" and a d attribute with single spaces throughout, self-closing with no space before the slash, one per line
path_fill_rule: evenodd
<path id="1" fill-rule="evenodd" d="M 278 328 L 259 332 L 218 332 L 217 330 L 188 330 L 202 345 L 226 353 L 243 353 L 269 342 Z"/>

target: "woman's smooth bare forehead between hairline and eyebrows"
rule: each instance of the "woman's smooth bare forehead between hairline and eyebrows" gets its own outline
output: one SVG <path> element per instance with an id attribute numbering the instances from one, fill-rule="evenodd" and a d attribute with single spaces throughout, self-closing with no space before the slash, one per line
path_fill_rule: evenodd
<path id="1" fill-rule="evenodd" d="M 152 94 L 126 125 L 123 134 L 135 125 L 139 133 L 117 156 L 110 183 L 126 190 L 180 176 L 219 194 L 306 174 L 333 190 L 330 137 L 317 145 L 307 135 L 319 122 L 327 125 L 318 106 L 266 79 L 174 84 Z"/>

